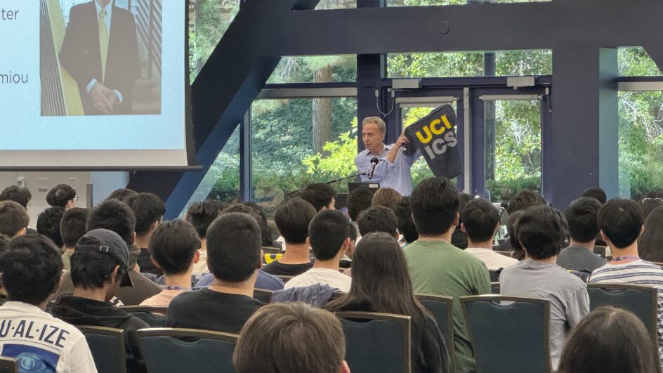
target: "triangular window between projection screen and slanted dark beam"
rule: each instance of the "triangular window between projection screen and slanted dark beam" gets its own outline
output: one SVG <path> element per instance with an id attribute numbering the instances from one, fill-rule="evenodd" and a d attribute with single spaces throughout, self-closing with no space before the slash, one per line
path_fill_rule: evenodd
<path id="1" fill-rule="evenodd" d="M 193 82 L 239 11 L 237 0 L 196 1 L 190 11 L 189 77 Z"/>

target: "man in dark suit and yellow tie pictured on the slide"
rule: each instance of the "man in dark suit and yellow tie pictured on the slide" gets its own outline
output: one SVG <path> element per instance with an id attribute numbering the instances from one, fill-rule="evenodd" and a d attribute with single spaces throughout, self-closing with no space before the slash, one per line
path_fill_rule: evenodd
<path id="1" fill-rule="evenodd" d="M 59 57 L 79 86 L 86 115 L 132 113 L 140 59 L 131 12 L 111 0 L 73 6 Z"/>

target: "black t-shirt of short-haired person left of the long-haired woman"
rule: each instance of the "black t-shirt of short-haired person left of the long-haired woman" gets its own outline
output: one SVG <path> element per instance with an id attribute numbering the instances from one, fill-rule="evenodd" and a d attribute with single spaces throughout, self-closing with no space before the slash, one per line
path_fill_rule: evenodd
<path id="1" fill-rule="evenodd" d="M 264 306 L 249 296 L 202 289 L 176 296 L 168 306 L 167 327 L 188 327 L 235 333 Z"/>

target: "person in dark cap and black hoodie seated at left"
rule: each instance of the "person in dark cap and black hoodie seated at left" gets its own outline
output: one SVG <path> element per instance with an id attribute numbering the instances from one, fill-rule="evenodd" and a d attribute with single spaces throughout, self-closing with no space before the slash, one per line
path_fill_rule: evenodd
<path id="1" fill-rule="evenodd" d="M 74 294 L 55 303 L 53 316 L 77 326 L 123 329 L 127 367 L 129 372 L 140 372 L 136 330 L 150 325 L 109 303 L 119 286 L 132 286 L 126 242 L 110 230 L 90 230 L 76 244 L 71 276 Z"/>

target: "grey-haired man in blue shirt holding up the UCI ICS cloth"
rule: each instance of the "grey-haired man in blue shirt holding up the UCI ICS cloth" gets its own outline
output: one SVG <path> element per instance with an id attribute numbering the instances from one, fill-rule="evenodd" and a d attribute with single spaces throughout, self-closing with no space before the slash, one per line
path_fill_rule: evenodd
<path id="1" fill-rule="evenodd" d="M 371 169 L 371 159 L 377 157 L 379 163 L 375 166 L 373 178 L 362 175 L 362 181 L 380 183 L 381 188 L 393 188 L 401 195 L 412 193 L 412 174 L 410 167 L 421 157 L 417 150 L 414 155 L 405 155 L 401 149 L 407 143 L 405 135 L 401 136 L 392 145 L 384 144 L 386 124 L 380 117 L 367 117 L 362 122 L 362 141 L 366 150 L 357 154 L 355 166 L 358 172 L 368 172 Z"/>

